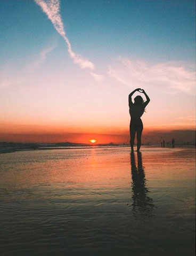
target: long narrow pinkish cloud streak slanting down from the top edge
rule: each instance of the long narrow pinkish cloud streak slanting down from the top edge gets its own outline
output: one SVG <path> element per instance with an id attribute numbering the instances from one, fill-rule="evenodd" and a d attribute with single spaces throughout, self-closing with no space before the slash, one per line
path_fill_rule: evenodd
<path id="1" fill-rule="evenodd" d="M 64 25 L 60 15 L 60 0 L 35 0 L 35 2 L 42 8 L 43 12 L 47 14 L 48 19 L 51 20 L 56 31 L 64 38 L 67 43 L 69 56 L 74 60 L 74 63 L 80 65 L 80 68 L 94 69 L 94 64 L 78 55 L 71 49 L 71 43 L 66 36 Z"/>

